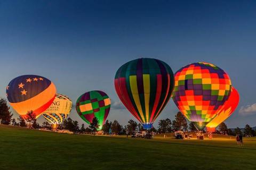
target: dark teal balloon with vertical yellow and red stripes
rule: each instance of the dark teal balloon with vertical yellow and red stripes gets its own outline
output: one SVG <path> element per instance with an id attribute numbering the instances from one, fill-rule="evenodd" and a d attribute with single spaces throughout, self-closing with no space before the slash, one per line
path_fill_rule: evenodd
<path id="1" fill-rule="evenodd" d="M 152 128 L 169 101 L 173 86 L 171 67 L 154 58 L 127 62 L 115 76 L 118 97 L 144 129 Z"/>

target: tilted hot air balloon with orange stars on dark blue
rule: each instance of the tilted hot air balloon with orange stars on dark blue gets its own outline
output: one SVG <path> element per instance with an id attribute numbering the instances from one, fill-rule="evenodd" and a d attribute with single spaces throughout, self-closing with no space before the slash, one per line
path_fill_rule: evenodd
<path id="1" fill-rule="evenodd" d="M 52 104 L 55 95 L 55 85 L 39 75 L 21 75 L 6 87 L 10 105 L 23 118 L 30 111 L 37 118 Z"/>

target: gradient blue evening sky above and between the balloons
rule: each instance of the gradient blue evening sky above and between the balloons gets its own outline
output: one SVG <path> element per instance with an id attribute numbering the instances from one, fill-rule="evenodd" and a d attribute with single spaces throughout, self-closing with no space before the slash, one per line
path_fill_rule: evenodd
<path id="1" fill-rule="evenodd" d="M 255 30 L 256 1 L 0 0 L 0 96 L 13 78 L 38 74 L 74 102 L 105 91 L 114 103 L 109 120 L 125 125 L 133 117 L 115 93 L 119 66 L 154 57 L 175 72 L 205 61 L 225 70 L 239 91 L 228 126 L 256 126 Z M 157 121 L 177 111 L 170 100 Z M 75 110 L 70 117 L 84 123 Z"/>

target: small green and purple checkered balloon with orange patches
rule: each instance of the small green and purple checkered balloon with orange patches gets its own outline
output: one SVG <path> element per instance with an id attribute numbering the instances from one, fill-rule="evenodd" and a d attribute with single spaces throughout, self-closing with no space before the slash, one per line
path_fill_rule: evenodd
<path id="1" fill-rule="evenodd" d="M 76 111 L 78 115 L 88 124 L 92 123 L 94 117 L 97 117 L 101 130 L 110 111 L 110 98 L 99 90 L 89 91 L 81 95 L 76 101 Z"/>

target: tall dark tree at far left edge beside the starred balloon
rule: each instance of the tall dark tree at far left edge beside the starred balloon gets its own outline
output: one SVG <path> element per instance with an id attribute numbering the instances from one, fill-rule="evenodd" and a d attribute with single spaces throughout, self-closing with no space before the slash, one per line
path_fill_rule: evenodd
<path id="1" fill-rule="evenodd" d="M 5 99 L 0 99 L 0 123 L 9 125 L 12 121 L 13 114 L 9 111 L 10 107 L 7 106 Z"/>

